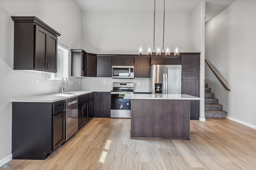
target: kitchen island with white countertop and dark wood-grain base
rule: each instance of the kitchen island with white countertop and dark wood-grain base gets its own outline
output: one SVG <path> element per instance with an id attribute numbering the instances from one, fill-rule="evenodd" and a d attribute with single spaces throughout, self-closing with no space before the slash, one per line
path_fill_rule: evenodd
<path id="1" fill-rule="evenodd" d="M 190 140 L 190 95 L 126 94 L 131 99 L 131 139 Z"/>

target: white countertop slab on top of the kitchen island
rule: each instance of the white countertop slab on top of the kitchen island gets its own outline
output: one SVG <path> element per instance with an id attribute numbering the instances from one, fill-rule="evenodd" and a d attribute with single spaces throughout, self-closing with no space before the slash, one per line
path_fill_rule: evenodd
<path id="1" fill-rule="evenodd" d="M 126 94 L 124 99 L 160 99 L 160 100 L 202 100 L 190 95 L 162 95 L 162 94 Z"/>

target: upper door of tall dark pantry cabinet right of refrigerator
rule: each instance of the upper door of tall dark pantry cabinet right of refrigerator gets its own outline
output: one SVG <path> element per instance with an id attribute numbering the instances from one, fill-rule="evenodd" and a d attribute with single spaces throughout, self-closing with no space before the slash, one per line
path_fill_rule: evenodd
<path id="1" fill-rule="evenodd" d="M 182 55 L 181 65 L 182 65 L 182 76 L 183 77 L 198 77 L 199 76 L 199 57 L 200 55 Z"/>

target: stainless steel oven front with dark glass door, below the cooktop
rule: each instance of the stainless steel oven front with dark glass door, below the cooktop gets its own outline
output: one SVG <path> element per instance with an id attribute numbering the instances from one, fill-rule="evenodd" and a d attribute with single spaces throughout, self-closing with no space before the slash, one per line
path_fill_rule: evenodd
<path id="1" fill-rule="evenodd" d="M 131 118 L 131 99 L 124 99 L 124 95 L 133 93 L 111 92 L 111 118 Z"/>

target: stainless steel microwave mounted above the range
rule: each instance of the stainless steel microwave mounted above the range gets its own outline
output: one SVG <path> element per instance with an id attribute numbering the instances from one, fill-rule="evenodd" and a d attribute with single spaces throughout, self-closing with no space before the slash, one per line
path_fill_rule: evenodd
<path id="1" fill-rule="evenodd" d="M 112 65 L 112 78 L 134 78 L 134 66 L 116 66 Z"/>

